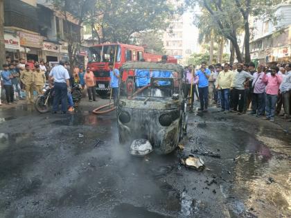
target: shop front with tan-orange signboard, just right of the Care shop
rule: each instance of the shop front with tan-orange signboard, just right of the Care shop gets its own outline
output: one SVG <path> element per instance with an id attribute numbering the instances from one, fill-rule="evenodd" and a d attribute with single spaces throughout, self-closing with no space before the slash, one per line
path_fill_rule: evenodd
<path id="1" fill-rule="evenodd" d="M 42 57 L 42 37 L 37 34 L 19 32 L 20 56 L 26 60 L 39 61 Z"/>

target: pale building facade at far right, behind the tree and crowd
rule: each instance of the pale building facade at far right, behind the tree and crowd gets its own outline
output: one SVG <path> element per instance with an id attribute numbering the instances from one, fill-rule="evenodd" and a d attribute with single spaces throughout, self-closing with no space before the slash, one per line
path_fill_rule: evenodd
<path id="1" fill-rule="evenodd" d="M 276 6 L 276 25 L 270 20 L 254 21 L 254 39 L 250 44 L 251 59 L 259 64 L 291 61 L 291 4 Z"/>

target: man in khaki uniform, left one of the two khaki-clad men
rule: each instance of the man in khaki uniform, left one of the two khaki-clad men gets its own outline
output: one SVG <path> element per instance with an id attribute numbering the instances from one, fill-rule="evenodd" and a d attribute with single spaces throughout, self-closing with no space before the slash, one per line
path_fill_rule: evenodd
<path id="1" fill-rule="evenodd" d="M 20 73 L 20 80 L 25 86 L 26 100 L 28 104 L 33 102 L 33 71 L 30 66 L 25 64 L 25 70 Z"/>

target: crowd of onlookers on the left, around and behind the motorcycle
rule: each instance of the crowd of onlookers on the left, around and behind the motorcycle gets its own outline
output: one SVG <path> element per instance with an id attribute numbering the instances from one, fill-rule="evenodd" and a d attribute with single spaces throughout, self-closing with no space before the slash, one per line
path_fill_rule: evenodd
<path id="1" fill-rule="evenodd" d="M 2 102 L 7 105 L 17 104 L 17 100 L 26 100 L 28 104 L 33 102 L 35 94 L 43 93 L 44 84 L 48 83 L 49 73 L 54 65 L 43 60 L 35 62 L 34 60 L 11 60 L 6 57 L 6 63 L 2 65 L 0 71 L 0 106 Z M 69 70 L 69 63 L 64 62 L 64 68 Z M 73 73 L 69 73 L 70 84 L 80 84 L 87 87 L 89 101 L 96 101 L 96 82 L 91 70 L 84 69 L 82 66 L 74 66 Z M 2 101 L 1 101 L 2 99 Z M 69 108 L 69 110 L 73 110 Z"/>

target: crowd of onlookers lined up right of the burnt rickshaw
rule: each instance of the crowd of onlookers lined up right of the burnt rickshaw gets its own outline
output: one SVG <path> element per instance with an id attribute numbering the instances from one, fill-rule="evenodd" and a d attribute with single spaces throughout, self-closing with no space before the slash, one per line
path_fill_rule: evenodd
<path id="1" fill-rule="evenodd" d="M 186 96 L 200 100 L 200 110 L 206 112 L 211 103 L 224 113 L 247 113 L 274 122 L 274 116 L 290 121 L 291 65 L 290 64 L 215 64 L 200 69 L 185 68 Z M 283 106 L 283 111 L 281 110 Z"/>

